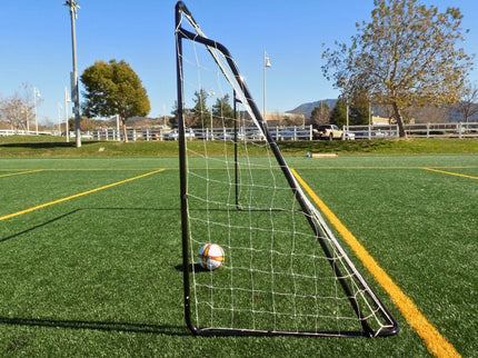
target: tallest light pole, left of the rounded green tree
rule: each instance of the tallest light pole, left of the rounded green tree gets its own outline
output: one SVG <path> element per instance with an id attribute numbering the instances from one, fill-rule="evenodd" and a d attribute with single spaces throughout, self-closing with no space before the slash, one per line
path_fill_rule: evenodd
<path id="1" fill-rule="evenodd" d="M 80 96 L 78 91 L 78 63 L 77 63 L 77 30 L 74 27 L 74 20 L 78 18 L 77 10 L 80 6 L 74 0 L 64 1 L 63 6 L 70 8 L 71 18 L 71 44 L 73 54 L 73 72 L 71 73 L 71 101 L 73 102 L 74 113 L 74 133 L 76 133 L 76 146 L 81 147 L 81 132 L 80 132 Z"/>

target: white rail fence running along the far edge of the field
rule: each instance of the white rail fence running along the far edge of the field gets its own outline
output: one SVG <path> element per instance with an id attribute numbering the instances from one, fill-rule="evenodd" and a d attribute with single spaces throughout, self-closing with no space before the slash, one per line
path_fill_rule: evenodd
<path id="1" fill-rule="evenodd" d="M 291 126 L 291 127 L 270 127 L 272 137 L 276 141 L 281 140 L 312 140 L 312 126 Z M 380 126 L 349 126 L 342 128 L 342 139 L 387 139 L 398 138 L 397 125 L 380 125 Z M 405 131 L 409 138 L 478 138 L 478 122 L 447 122 L 447 123 L 417 123 L 406 125 Z M 0 130 L 1 136 L 22 136 L 27 135 L 23 130 Z M 30 131 L 28 135 L 36 135 Z M 58 131 L 38 132 L 40 136 L 63 136 Z M 104 129 L 96 131 L 82 132 L 83 139 L 90 140 L 123 140 L 122 131 L 116 129 Z M 177 140 L 177 129 L 128 129 L 128 140 Z M 261 133 L 250 128 L 238 128 L 238 139 L 261 140 Z M 70 137 L 74 138 L 74 132 L 70 131 Z M 186 137 L 196 140 L 221 140 L 233 139 L 233 128 L 213 128 L 213 129 L 187 129 Z"/>

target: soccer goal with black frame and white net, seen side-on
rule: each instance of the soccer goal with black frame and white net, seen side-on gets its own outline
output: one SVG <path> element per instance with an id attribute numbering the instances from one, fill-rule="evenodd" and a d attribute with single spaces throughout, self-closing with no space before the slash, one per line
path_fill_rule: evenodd
<path id="1" fill-rule="evenodd" d="M 196 335 L 391 336 L 399 327 L 280 153 L 228 49 L 176 6 L 186 322 Z M 219 245 L 203 269 L 198 252 Z M 203 250 L 203 249 L 201 249 Z M 205 259 L 201 251 L 201 259 Z"/>

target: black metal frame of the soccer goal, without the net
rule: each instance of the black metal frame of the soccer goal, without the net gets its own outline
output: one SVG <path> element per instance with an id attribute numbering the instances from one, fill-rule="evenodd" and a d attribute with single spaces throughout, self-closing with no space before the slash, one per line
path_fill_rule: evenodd
<path id="1" fill-rule="evenodd" d="M 387 308 L 384 306 L 384 304 L 380 301 L 380 299 L 375 295 L 371 287 L 368 285 L 368 290 L 370 290 L 375 298 L 376 304 L 381 308 L 380 314 L 382 315 L 384 319 L 388 321 L 388 329 L 387 330 L 380 330 L 379 332 L 374 331 L 374 329 L 368 325 L 368 322 L 362 319 L 364 315 L 360 310 L 360 307 L 358 305 L 357 299 L 355 298 L 347 280 L 343 278 L 340 268 L 338 267 L 336 259 L 333 258 L 330 248 L 321 233 L 321 230 L 317 222 L 312 219 L 313 215 L 310 211 L 309 206 L 307 205 L 306 200 L 302 197 L 302 191 L 298 187 L 298 182 L 293 178 L 292 172 L 290 171 L 288 165 L 286 163 L 273 137 L 269 132 L 269 129 L 266 125 L 266 121 L 263 120 L 256 102 L 253 101 L 252 97 L 250 96 L 250 92 L 246 86 L 246 83 L 242 80 L 242 77 L 240 76 L 239 69 L 237 68 L 235 61 L 232 60 L 232 57 L 229 52 L 229 50 L 221 43 L 213 41 L 211 39 L 208 39 L 200 33 L 193 33 L 185 28 L 181 27 L 181 17 L 182 14 L 187 16 L 190 23 L 196 28 L 199 29 L 199 26 L 192 18 L 191 12 L 188 10 L 186 4 L 182 1 L 179 1 L 176 4 L 176 64 L 177 64 L 177 95 L 178 95 L 178 127 L 179 127 L 179 172 L 180 172 L 180 200 L 181 200 L 181 230 L 182 230 L 182 271 L 183 271 L 183 299 L 185 299 L 185 319 L 186 324 L 191 330 L 193 335 L 199 336 L 339 336 L 339 337 L 387 337 L 387 336 L 394 336 L 398 334 L 400 330 L 400 327 L 398 322 L 395 320 L 395 318 L 391 316 L 391 314 L 387 310 Z M 183 108 L 183 87 L 182 87 L 182 40 L 189 40 L 195 41 L 198 43 L 201 43 L 208 48 L 208 50 L 211 52 L 211 48 L 220 51 L 223 57 L 227 60 L 227 63 L 232 71 L 236 81 L 239 83 L 241 91 L 245 95 L 245 98 L 248 101 L 248 106 L 252 110 L 255 117 L 258 120 L 259 129 L 263 133 L 266 141 L 268 142 L 279 167 L 282 170 L 282 173 L 285 175 L 290 189 L 297 199 L 297 201 L 300 205 L 300 208 L 307 218 L 320 247 L 322 248 L 326 257 L 328 258 L 328 261 L 338 278 L 340 286 L 342 287 L 347 298 L 350 301 L 350 305 L 353 308 L 353 311 L 357 315 L 357 318 L 360 320 L 362 326 L 362 331 L 266 331 L 266 330 L 252 330 L 252 329 L 227 329 L 227 328 L 218 328 L 218 329 L 201 329 L 200 327 L 196 327 L 195 324 L 191 320 L 191 296 L 190 296 L 190 287 L 189 287 L 189 227 L 188 227 L 188 190 L 187 190 L 187 161 L 186 161 L 186 126 L 185 126 L 185 108 Z M 215 57 L 211 53 L 212 57 Z M 239 101 L 236 99 L 235 93 L 235 109 L 236 109 L 236 101 Z M 235 142 L 237 142 L 237 128 L 235 127 Z M 236 151 L 236 149 L 235 149 Z M 237 152 L 235 152 L 237 156 Z M 237 160 L 236 160 L 237 161 Z M 236 167 L 237 168 L 237 167 Z M 238 210 L 242 210 L 242 208 L 238 206 Z"/>

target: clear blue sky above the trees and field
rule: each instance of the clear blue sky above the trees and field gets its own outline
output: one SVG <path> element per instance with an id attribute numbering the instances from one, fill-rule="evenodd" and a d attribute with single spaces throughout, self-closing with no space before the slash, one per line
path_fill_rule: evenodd
<path id="1" fill-rule="evenodd" d="M 150 117 L 171 112 L 176 100 L 173 0 L 77 0 L 79 73 L 96 60 L 126 60 L 141 78 Z M 70 86 L 70 18 L 62 0 L 2 1 L 0 8 L 0 96 L 22 82 L 37 87 L 40 122 L 56 122 L 63 88 Z M 458 7 L 469 29 L 466 52 L 478 53 L 478 1 L 424 0 L 441 11 Z M 374 0 L 185 0 L 205 33 L 228 47 L 258 103 L 262 103 L 263 51 L 268 111 L 336 98 L 321 73 L 322 42 L 348 42 L 356 22 L 369 21 Z M 478 80 L 478 69 L 470 76 Z M 260 106 L 260 105 L 259 105 Z M 70 108 L 71 112 L 71 108 Z M 63 110 L 61 111 L 63 117 Z"/>

